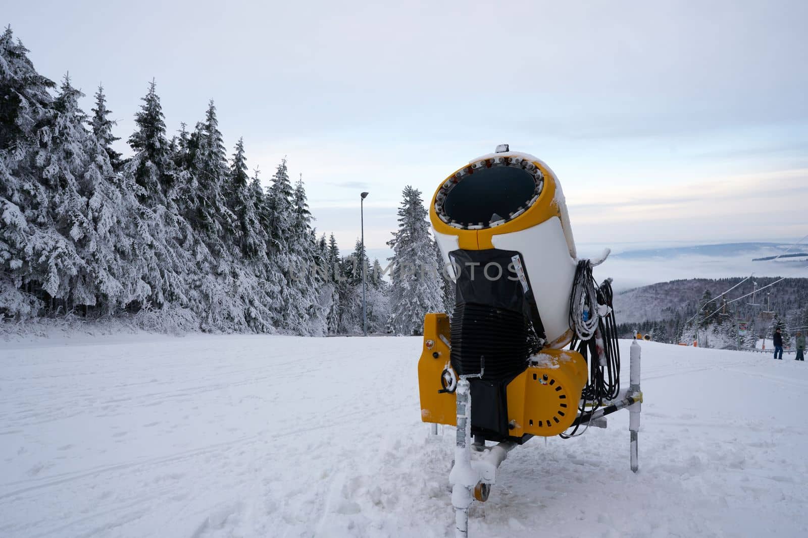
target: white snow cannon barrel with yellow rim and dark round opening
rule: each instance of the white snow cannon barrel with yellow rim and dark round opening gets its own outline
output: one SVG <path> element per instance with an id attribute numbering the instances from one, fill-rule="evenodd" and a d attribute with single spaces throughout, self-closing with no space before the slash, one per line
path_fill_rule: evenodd
<path id="1" fill-rule="evenodd" d="M 440 184 L 429 217 L 453 281 L 464 271 L 472 277 L 474 269 L 480 287 L 497 265 L 511 280 L 524 275 L 523 290 L 532 292 L 533 314 L 541 318 L 533 321 L 544 332 L 537 336 L 551 348 L 570 343 L 575 243 L 561 184 L 548 165 L 510 151 L 473 159 Z"/>

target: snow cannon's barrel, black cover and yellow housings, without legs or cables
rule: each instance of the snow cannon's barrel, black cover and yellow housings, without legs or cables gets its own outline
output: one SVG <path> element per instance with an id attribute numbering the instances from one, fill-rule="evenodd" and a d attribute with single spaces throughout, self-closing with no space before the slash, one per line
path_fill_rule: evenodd
<path id="1" fill-rule="evenodd" d="M 425 422 L 454 424 L 457 378 L 482 371 L 469 380 L 473 435 L 521 443 L 573 423 L 587 363 L 562 350 L 573 337 L 576 255 L 558 178 L 534 156 L 497 149 L 446 177 L 431 200 L 456 302 L 451 323 L 424 319 L 419 390 Z"/>

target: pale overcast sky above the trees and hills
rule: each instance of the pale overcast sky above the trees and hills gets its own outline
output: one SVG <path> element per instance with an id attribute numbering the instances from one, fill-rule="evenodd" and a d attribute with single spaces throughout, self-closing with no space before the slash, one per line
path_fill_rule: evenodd
<path id="1" fill-rule="evenodd" d="M 496 144 L 558 174 L 580 243 L 808 233 L 808 2 L 4 2 L 40 73 L 99 81 L 124 141 L 154 77 L 169 131 L 217 105 L 315 225 L 385 248 Z M 232 151 L 230 151 L 232 152 Z M 378 252 L 381 252 L 378 251 Z"/>

